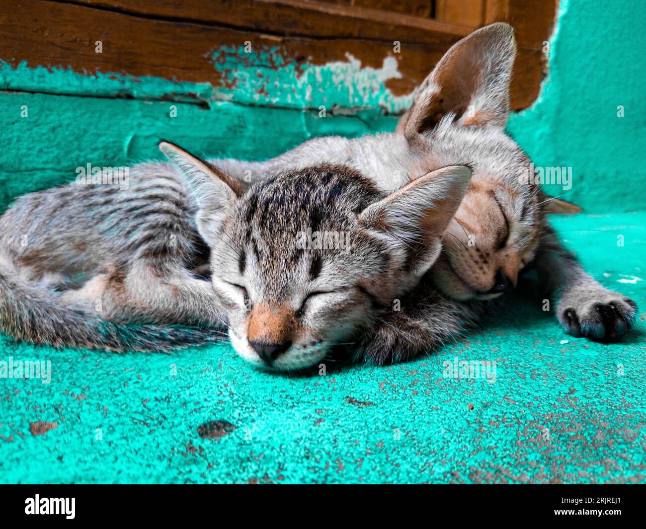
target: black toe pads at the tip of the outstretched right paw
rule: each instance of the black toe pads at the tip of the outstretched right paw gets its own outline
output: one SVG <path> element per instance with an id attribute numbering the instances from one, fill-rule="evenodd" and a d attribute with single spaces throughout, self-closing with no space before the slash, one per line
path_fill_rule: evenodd
<path id="1" fill-rule="evenodd" d="M 603 298 L 610 291 L 603 291 Z M 625 334 L 635 323 L 637 306 L 630 298 L 603 300 L 599 303 L 585 302 L 576 309 L 572 306 L 560 312 L 563 330 L 573 337 L 591 340 L 615 340 Z"/>

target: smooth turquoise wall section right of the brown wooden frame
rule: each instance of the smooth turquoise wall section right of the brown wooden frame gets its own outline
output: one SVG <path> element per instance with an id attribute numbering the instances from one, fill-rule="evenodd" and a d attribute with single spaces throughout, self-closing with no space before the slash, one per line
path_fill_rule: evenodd
<path id="1" fill-rule="evenodd" d="M 508 125 L 536 165 L 572 167 L 564 198 L 589 213 L 643 211 L 646 203 L 644 7 L 562 1 L 541 97 Z"/>

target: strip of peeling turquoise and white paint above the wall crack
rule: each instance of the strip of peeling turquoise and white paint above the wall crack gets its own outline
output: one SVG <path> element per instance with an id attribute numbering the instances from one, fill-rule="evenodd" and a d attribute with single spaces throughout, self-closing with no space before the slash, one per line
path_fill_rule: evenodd
<path id="1" fill-rule="evenodd" d="M 323 105 L 326 111 L 344 115 L 362 109 L 397 114 L 410 106 L 412 94 L 395 96 L 385 86 L 389 79 L 402 77 L 395 57 L 385 57 L 381 68 L 362 67 L 356 57 L 346 57 L 347 61 L 318 66 L 286 59 L 280 47 L 249 53 L 244 46 L 222 47 L 212 57 L 213 67 L 222 74 L 222 84 L 216 87 L 152 76 L 84 75 L 64 67 L 32 68 L 26 61 L 12 68 L 0 61 L 0 90 L 158 99 L 203 107 L 214 101 L 301 110 L 318 110 Z"/>

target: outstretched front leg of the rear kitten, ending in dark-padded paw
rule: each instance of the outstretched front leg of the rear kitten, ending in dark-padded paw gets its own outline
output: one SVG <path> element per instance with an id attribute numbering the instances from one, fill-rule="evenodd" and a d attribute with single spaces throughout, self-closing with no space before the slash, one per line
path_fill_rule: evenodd
<path id="1" fill-rule="evenodd" d="M 541 238 L 535 264 L 541 285 L 556 302 L 556 316 L 570 335 L 612 340 L 634 325 L 635 302 L 586 273 L 551 227 Z"/>

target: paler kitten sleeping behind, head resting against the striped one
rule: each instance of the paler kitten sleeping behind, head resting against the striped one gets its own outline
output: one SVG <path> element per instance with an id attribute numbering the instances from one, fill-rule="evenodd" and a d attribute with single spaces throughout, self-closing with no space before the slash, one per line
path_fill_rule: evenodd
<path id="1" fill-rule="evenodd" d="M 472 181 L 444 234 L 444 251 L 430 282 L 455 300 L 489 300 L 515 287 L 519 271 L 531 263 L 544 296 L 556 302 L 554 312 L 566 332 L 612 340 L 634 324 L 635 303 L 605 289 L 563 248 L 547 214 L 580 208 L 543 194 L 533 174 L 528 182 L 530 159 L 505 134 L 515 54 L 509 25 L 486 26 L 446 52 L 393 133 L 316 138 L 268 161 L 211 163 L 241 182 L 313 163 L 342 163 L 385 192 L 437 167 L 469 164 Z M 393 321 L 384 317 L 375 340 L 366 344 L 377 358 L 388 357 L 395 343 L 402 357 L 410 357 L 443 342 L 456 326 L 425 331 L 430 318 L 419 307 L 408 319 L 406 311 L 392 313 Z M 417 330 L 410 333 L 402 326 Z"/>

